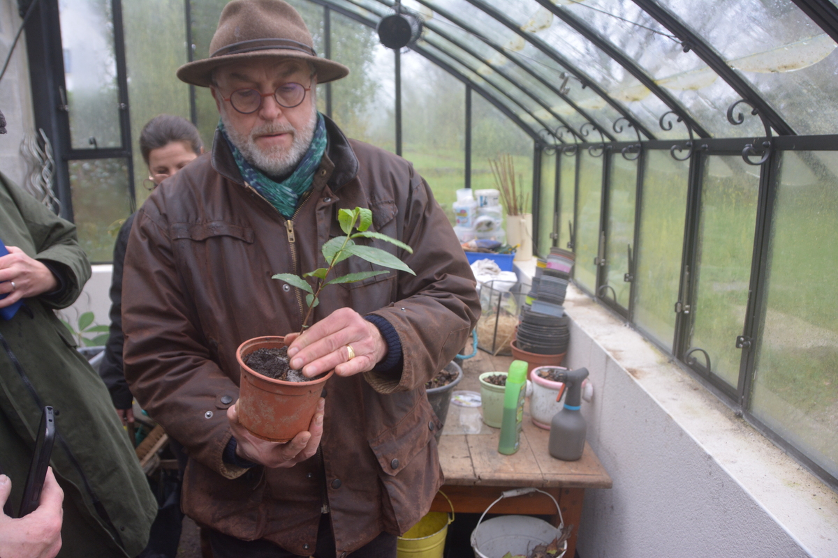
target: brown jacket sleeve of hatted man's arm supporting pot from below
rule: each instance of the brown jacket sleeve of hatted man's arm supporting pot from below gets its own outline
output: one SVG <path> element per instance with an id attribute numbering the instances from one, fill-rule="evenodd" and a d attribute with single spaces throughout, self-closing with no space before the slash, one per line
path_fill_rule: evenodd
<path id="1" fill-rule="evenodd" d="M 178 274 L 168 225 L 149 198 L 137 212 L 123 269 L 125 377 L 140 406 L 189 457 L 228 479 L 246 472 L 222 456 L 232 437 L 221 393 L 238 387 L 212 361 Z"/>

